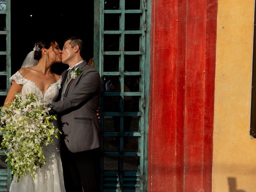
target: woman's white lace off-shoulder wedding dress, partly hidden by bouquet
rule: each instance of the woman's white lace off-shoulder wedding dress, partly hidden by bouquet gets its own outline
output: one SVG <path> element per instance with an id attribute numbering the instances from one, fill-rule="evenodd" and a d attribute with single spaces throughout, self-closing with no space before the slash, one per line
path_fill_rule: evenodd
<path id="1" fill-rule="evenodd" d="M 24 78 L 20 72 L 16 72 L 10 81 L 15 81 L 17 84 L 22 84 L 22 95 L 27 95 L 32 92 L 38 99 L 45 100 L 47 103 L 56 100 L 61 78 L 48 87 L 43 93 L 34 82 Z M 57 122 L 54 126 L 58 126 Z M 27 172 L 27 176 L 22 178 L 21 182 L 16 182 L 16 178 L 12 180 L 10 192 L 65 192 L 62 162 L 60 159 L 60 139 L 54 138 L 54 142 L 43 148 L 46 164 L 35 175 L 35 179 Z"/>

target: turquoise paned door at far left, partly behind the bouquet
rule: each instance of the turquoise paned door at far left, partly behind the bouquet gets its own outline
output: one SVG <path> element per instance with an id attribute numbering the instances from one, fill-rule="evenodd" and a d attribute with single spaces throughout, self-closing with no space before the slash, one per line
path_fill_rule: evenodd
<path id="1" fill-rule="evenodd" d="M 0 0 L 0 97 L 7 95 L 11 84 L 11 54 L 10 54 L 10 0 Z M 1 104 L 2 106 L 2 104 Z M 0 143 L 2 133 L 0 133 Z M 9 191 L 11 174 L 8 163 L 5 162 L 4 150 L 0 151 L 0 192 Z"/>

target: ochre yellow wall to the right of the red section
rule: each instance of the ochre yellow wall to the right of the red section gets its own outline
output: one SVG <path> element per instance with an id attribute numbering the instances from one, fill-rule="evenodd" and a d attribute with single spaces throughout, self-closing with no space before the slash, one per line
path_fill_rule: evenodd
<path id="1" fill-rule="evenodd" d="M 256 139 L 249 136 L 253 19 L 254 0 L 218 0 L 213 192 L 256 192 Z"/>

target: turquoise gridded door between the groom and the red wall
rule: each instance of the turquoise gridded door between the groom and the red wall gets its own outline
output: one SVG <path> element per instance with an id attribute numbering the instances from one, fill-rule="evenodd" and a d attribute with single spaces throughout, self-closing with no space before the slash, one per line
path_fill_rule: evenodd
<path id="1" fill-rule="evenodd" d="M 149 81 L 146 2 L 94 3 L 94 61 L 102 78 L 102 191 L 144 192 Z"/>

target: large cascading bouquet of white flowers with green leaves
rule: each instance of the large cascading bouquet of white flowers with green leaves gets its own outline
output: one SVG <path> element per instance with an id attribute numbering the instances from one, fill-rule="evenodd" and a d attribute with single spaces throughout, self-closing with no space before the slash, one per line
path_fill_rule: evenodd
<path id="1" fill-rule="evenodd" d="M 54 127 L 56 117 L 49 114 L 51 108 L 43 100 L 32 93 L 26 98 L 21 94 L 15 97 L 10 106 L 1 107 L 0 149 L 8 149 L 6 161 L 10 161 L 10 170 L 19 182 L 27 170 L 34 178 L 37 168 L 46 163 L 42 148 L 53 142 L 52 136 L 58 138 L 60 131 Z"/>

